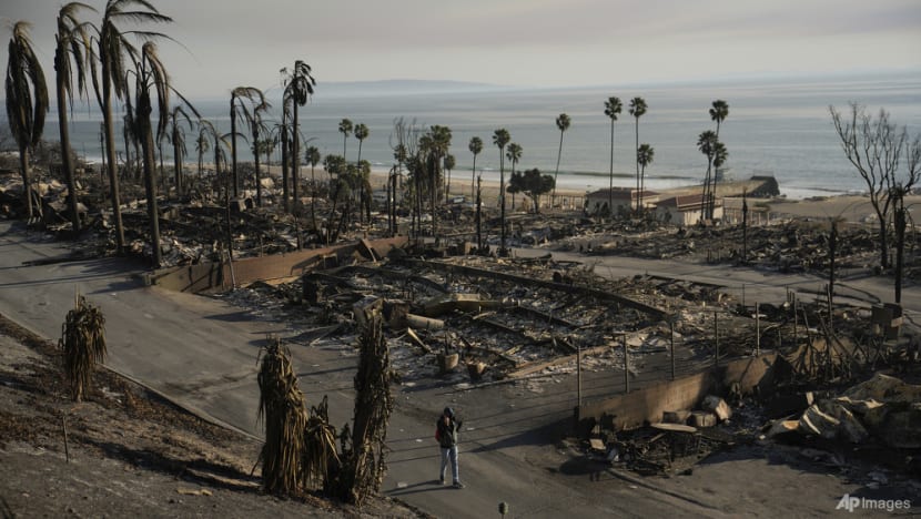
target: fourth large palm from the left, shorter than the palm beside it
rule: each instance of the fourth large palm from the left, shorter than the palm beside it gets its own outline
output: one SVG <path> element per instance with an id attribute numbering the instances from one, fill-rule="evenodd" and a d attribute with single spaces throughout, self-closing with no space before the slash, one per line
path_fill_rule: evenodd
<path id="1" fill-rule="evenodd" d="M 154 129 L 151 114 L 154 106 L 151 91 L 156 96 L 156 135 L 166 131 L 170 113 L 170 79 L 166 69 L 156 53 L 156 45 L 146 42 L 141 48 L 141 54 L 134 62 L 134 134 L 141 141 L 144 167 L 144 191 L 148 199 L 148 217 L 150 218 L 150 246 L 153 254 L 153 266 L 159 267 L 163 262 L 160 250 L 160 211 L 156 207 L 156 170 L 154 157 Z M 128 108 L 131 109 L 131 96 L 125 96 Z"/>

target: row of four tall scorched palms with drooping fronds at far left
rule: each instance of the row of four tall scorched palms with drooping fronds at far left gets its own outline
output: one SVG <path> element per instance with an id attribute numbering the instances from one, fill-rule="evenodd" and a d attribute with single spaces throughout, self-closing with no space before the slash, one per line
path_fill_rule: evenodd
<path id="1" fill-rule="evenodd" d="M 128 106 L 128 126 L 134 132 L 142 144 L 144 154 L 145 174 L 151 172 L 153 157 L 153 128 L 150 116 L 153 110 L 151 90 L 155 92 L 158 106 L 161 109 L 156 124 L 159 134 L 166 129 L 169 110 L 170 84 L 152 40 L 164 38 L 164 34 L 153 31 L 133 30 L 123 32 L 119 23 L 165 23 L 171 18 L 161 14 L 156 9 L 143 0 L 109 0 L 105 4 L 102 23 L 99 28 L 90 22 L 81 21 L 81 10 L 95 10 L 81 2 L 70 2 L 58 12 L 55 33 L 54 69 L 58 98 L 59 128 L 62 146 L 64 176 L 68 184 L 69 206 L 74 232 L 80 230 L 79 212 L 77 211 L 77 190 L 74 180 L 74 164 L 71 160 L 72 150 L 68 132 L 67 108 L 73 101 L 73 81 L 77 81 L 75 92 L 88 95 L 87 78 L 89 75 L 93 91 L 103 112 L 103 130 L 105 136 L 107 162 L 109 164 L 110 189 L 112 199 L 113 220 L 115 223 L 117 246 L 124 250 L 124 230 L 122 227 L 119 177 L 115 162 L 113 96 L 121 99 Z M 23 181 L 26 211 L 31 218 L 40 214 L 41 207 L 33 207 L 30 182 L 29 153 L 41 140 L 44 116 L 49 110 L 48 88 L 44 72 L 36 55 L 29 39 L 29 23 L 19 21 L 13 26 L 9 45 L 9 61 L 7 63 L 6 92 L 7 113 L 10 120 L 10 130 L 17 141 L 20 152 L 20 171 Z M 141 49 L 128 41 L 129 34 L 144 41 Z M 101 69 L 101 74 L 99 70 Z M 133 89 L 131 78 L 133 77 Z M 100 85 L 101 80 L 101 85 Z M 133 94 L 133 99 L 131 98 Z M 151 201 L 151 182 L 148 187 L 149 207 L 155 207 Z M 153 202 L 153 203 L 152 203 Z M 151 223 L 155 234 L 155 222 Z M 155 253 L 159 247 L 154 247 Z M 159 255 L 155 254 L 159 262 Z"/>

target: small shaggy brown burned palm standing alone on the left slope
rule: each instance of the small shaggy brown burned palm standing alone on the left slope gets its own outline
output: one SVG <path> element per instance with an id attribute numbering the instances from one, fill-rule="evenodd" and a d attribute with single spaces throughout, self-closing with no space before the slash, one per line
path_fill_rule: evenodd
<path id="1" fill-rule="evenodd" d="M 102 311 L 83 296 L 68 312 L 58 347 L 64 353 L 64 376 L 74 401 L 81 401 L 90 391 L 93 370 L 105 360 L 105 317 Z"/>

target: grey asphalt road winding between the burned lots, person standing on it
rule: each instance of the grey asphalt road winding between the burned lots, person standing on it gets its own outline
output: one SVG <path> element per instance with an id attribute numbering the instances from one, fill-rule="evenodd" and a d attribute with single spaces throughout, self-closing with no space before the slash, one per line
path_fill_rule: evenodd
<path id="1" fill-rule="evenodd" d="M 57 340 L 79 292 L 100 306 L 107 318 L 108 367 L 200 416 L 261 436 L 256 423 L 259 349 L 270 334 L 290 337 L 297 330 L 285 323 L 254 318 L 220 299 L 144 286 L 141 275 L 145 266 L 135 262 L 59 261 L 65 255 L 62 244 L 0 222 L 0 313 Z M 727 272 L 677 262 L 598 260 L 596 272 L 601 275 L 649 273 L 709 283 L 731 281 L 763 291 L 763 297 L 778 291 L 782 296 L 787 286 L 819 283 L 810 276 Z M 879 291 L 884 297 L 881 283 L 858 279 L 853 284 L 849 289 Z M 918 291 L 907 292 L 912 314 L 918 308 Z M 352 347 L 295 345 L 292 355 L 308 404 L 328 395 L 333 424 L 348 420 L 357 360 Z M 600 380 L 610 374 L 588 377 Z M 719 516 L 718 510 L 697 501 L 629 485 L 591 466 L 574 465 L 558 446 L 547 445 L 549 432 L 568 426 L 575 405 L 573 378 L 550 377 L 539 384 L 519 381 L 475 390 L 438 380 L 399 386 L 388 429 L 392 452 L 385 492 L 438 517 L 497 517 L 502 501 L 510 505 L 509 517 Z M 460 454 L 464 490 L 435 484 L 438 450 L 434 423 L 446 405 L 458 409 L 465 421 Z"/>

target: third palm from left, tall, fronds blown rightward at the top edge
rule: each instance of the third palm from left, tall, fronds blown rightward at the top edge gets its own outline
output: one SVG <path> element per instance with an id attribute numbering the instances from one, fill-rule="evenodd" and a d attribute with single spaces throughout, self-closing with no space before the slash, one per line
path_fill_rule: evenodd
<path id="1" fill-rule="evenodd" d="M 109 190 L 112 199 L 112 218 L 115 223 L 115 240 L 119 253 L 124 251 L 124 227 L 122 225 L 121 195 L 119 194 L 119 175 L 115 162 L 115 121 L 112 109 L 112 95 L 122 99 L 126 94 L 128 81 L 124 58 L 136 54 L 136 49 L 125 39 L 133 34 L 144 40 L 163 37 L 150 31 L 130 31 L 122 33 L 118 23 L 125 21 L 139 23 L 168 23 L 172 18 L 160 12 L 146 0 L 108 0 L 99 29 L 99 61 L 102 67 L 102 86 L 93 73 L 93 88 L 102 109 L 102 123 L 105 126 L 105 153 L 109 162 Z"/>

